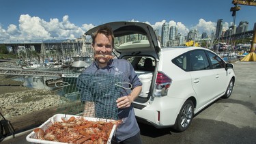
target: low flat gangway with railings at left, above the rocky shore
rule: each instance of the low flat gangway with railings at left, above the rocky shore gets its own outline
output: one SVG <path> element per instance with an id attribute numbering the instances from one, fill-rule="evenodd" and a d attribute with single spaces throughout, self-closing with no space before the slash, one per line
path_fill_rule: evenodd
<path id="1" fill-rule="evenodd" d="M 0 67 L 0 74 L 15 75 L 15 76 L 61 77 L 62 72 L 45 71 L 45 70 L 23 70 L 21 68 Z"/>

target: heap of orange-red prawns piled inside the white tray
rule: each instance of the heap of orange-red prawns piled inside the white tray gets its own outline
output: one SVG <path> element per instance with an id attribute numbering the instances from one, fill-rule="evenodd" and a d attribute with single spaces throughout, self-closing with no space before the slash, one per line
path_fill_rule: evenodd
<path id="1" fill-rule="evenodd" d="M 84 117 L 70 117 L 55 121 L 45 131 L 35 128 L 36 139 L 62 143 L 107 143 L 111 130 L 121 121 L 88 121 Z"/>

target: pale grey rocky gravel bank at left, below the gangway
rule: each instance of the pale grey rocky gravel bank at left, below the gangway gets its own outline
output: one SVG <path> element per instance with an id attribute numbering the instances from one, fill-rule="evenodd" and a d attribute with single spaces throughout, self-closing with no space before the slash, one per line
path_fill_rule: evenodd
<path id="1" fill-rule="evenodd" d="M 57 106 L 59 96 L 44 89 L 27 89 L 0 95 L 0 112 L 5 119 Z"/>

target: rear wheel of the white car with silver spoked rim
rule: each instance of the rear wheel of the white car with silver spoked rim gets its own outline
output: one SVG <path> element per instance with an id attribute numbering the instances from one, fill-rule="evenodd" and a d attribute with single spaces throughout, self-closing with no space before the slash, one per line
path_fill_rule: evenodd
<path id="1" fill-rule="evenodd" d="M 188 128 L 188 126 L 190 126 L 193 117 L 194 104 L 192 100 L 186 100 L 182 106 L 182 109 L 180 110 L 179 115 L 177 115 L 174 129 L 178 132 L 183 132 Z"/>

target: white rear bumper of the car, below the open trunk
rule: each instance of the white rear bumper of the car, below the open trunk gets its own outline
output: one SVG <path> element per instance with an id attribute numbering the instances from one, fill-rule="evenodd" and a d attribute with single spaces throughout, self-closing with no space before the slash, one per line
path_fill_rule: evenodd
<path id="1" fill-rule="evenodd" d="M 167 128 L 175 124 L 184 100 L 178 98 L 155 98 L 151 104 L 132 103 L 137 121 L 156 128 Z"/>

